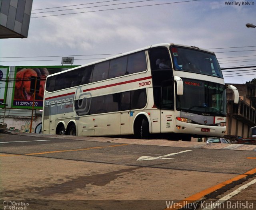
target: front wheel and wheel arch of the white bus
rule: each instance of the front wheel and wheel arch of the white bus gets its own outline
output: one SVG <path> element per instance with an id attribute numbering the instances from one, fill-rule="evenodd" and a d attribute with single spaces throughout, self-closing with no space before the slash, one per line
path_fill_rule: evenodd
<path id="1" fill-rule="evenodd" d="M 133 133 L 140 139 L 147 139 L 149 134 L 152 133 L 151 120 L 146 112 L 138 114 L 134 119 Z"/>

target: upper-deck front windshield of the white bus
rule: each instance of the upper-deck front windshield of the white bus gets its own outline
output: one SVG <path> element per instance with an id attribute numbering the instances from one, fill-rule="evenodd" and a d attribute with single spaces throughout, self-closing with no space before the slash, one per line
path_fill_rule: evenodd
<path id="1" fill-rule="evenodd" d="M 214 54 L 184 47 L 171 47 L 170 51 L 174 70 L 223 78 L 220 65 Z"/>

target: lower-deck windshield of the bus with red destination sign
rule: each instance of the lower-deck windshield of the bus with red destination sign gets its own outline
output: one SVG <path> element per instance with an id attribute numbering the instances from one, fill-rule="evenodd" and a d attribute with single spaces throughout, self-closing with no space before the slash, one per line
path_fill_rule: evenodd
<path id="1" fill-rule="evenodd" d="M 226 115 L 225 86 L 202 80 L 182 79 L 184 94 L 177 95 L 176 109 L 206 116 Z"/>

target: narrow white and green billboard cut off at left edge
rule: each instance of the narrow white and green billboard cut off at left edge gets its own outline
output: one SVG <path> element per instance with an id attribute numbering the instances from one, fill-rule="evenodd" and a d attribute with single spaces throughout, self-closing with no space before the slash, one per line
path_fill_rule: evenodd
<path id="1" fill-rule="evenodd" d="M 9 67 L 0 67 L 0 102 L 6 103 L 6 92 L 7 92 L 7 78 L 9 74 Z M 0 108 L 3 108 L 3 105 L 0 105 Z"/>

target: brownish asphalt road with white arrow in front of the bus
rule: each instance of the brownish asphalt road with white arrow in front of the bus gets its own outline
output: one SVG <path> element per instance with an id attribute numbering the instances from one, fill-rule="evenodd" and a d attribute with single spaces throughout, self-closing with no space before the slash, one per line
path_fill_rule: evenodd
<path id="1" fill-rule="evenodd" d="M 1 133 L 1 199 L 27 210 L 163 210 L 216 201 L 255 179 L 256 148 L 169 142 Z M 237 199 L 256 200 L 248 195 Z"/>

